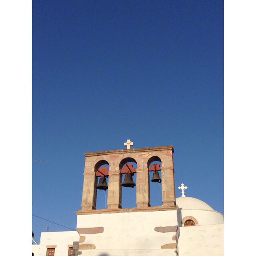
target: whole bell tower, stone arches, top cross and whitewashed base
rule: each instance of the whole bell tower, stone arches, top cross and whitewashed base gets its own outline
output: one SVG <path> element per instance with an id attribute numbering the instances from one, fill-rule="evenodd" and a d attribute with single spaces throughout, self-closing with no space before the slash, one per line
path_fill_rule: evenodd
<path id="1" fill-rule="evenodd" d="M 76 210 L 79 250 L 82 255 L 95 256 L 176 255 L 178 207 L 175 202 L 173 146 L 131 149 L 133 143 L 130 140 L 124 144 L 126 149 L 84 153 L 82 209 Z M 156 161 L 161 166 L 150 165 Z M 135 162 L 137 167 L 130 162 Z M 161 182 L 162 205 L 150 206 L 149 172 L 158 170 L 162 176 L 156 178 Z M 135 172 L 137 206 L 122 208 L 122 174 L 131 177 Z M 101 185 L 97 185 L 97 177 L 102 178 Z M 105 178 L 108 178 L 108 184 Z M 106 209 L 96 209 L 97 187 L 108 189 Z M 87 249 L 95 250 L 88 254 Z"/>

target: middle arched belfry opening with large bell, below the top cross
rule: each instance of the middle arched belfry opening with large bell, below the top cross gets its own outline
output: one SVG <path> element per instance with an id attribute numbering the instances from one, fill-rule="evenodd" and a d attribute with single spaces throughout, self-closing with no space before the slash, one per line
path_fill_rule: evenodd
<path id="1" fill-rule="evenodd" d="M 133 158 L 124 158 L 119 164 L 122 181 L 122 208 L 136 207 L 136 168 Z"/>

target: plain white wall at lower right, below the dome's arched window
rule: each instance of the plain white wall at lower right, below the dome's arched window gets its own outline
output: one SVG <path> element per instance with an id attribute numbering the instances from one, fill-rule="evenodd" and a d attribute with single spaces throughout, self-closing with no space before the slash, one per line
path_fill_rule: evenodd
<path id="1" fill-rule="evenodd" d="M 180 228 L 179 256 L 223 256 L 224 224 Z"/>

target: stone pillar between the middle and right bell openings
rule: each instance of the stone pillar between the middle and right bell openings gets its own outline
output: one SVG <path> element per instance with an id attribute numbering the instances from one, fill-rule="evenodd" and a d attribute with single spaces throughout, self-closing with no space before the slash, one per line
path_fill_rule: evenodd
<path id="1" fill-rule="evenodd" d="M 148 186 L 148 169 L 136 170 L 136 204 L 137 207 L 150 206 L 149 203 L 149 186 Z"/>

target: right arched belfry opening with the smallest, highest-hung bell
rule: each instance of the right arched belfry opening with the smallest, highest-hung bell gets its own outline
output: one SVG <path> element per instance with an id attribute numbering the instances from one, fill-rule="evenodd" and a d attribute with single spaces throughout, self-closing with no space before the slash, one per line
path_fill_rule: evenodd
<path id="1" fill-rule="evenodd" d="M 148 186 L 151 206 L 162 205 L 162 161 L 158 156 L 152 156 L 148 160 Z"/>

